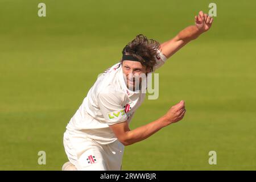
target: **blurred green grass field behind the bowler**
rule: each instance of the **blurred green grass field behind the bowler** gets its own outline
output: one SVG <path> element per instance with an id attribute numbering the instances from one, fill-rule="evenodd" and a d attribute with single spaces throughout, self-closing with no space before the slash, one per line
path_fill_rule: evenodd
<path id="1" fill-rule="evenodd" d="M 97 75 L 136 35 L 171 39 L 210 2 L 0 0 L 0 169 L 60 170 L 65 126 Z M 122 169 L 256 169 L 256 2 L 214 3 L 212 28 L 156 71 L 159 98 L 144 101 L 131 129 L 180 100 L 185 118 L 127 146 Z"/>

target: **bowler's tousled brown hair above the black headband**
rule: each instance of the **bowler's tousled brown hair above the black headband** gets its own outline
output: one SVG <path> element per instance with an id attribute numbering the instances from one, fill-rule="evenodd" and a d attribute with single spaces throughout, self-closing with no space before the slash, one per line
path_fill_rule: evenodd
<path id="1" fill-rule="evenodd" d="M 156 40 L 147 39 L 143 34 L 139 34 L 123 48 L 122 53 L 136 57 L 143 66 L 152 71 L 156 64 L 155 56 L 159 46 L 160 44 Z"/>

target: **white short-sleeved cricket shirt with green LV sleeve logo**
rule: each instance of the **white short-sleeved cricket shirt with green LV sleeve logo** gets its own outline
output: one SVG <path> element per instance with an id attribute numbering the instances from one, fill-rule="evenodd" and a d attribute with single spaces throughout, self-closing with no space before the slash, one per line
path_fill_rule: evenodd
<path id="1" fill-rule="evenodd" d="M 158 50 L 156 68 L 167 60 Z M 135 110 L 142 104 L 146 92 L 129 90 L 126 86 L 121 63 L 107 69 L 90 88 L 79 109 L 67 125 L 67 131 L 77 137 L 88 137 L 100 144 L 115 142 L 109 125 L 130 123 Z"/>

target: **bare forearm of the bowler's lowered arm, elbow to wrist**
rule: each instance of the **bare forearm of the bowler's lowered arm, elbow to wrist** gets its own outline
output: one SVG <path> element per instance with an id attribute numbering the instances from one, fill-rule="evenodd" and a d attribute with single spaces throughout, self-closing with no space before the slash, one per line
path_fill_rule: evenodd
<path id="1" fill-rule="evenodd" d="M 127 131 L 125 139 L 122 141 L 125 146 L 139 142 L 150 137 L 152 134 L 156 133 L 163 127 L 167 126 L 168 121 L 166 117 L 161 117 L 156 121 L 150 122 L 147 125 L 138 127 L 137 129 Z"/>

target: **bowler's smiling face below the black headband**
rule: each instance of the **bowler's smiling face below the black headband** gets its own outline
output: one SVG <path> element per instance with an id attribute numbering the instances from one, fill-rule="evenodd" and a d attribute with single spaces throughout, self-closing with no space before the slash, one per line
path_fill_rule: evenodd
<path id="1" fill-rule="evenodd" d="M 146 76 L 146 73 L 149 72 L 149 70 L 147 70 L 139 61 L 129 60 L 123 61 L 122 70 L 127 88 L 132 90 L 139 89 L 139 84 L 143 78 L 141 74 Z"/>

